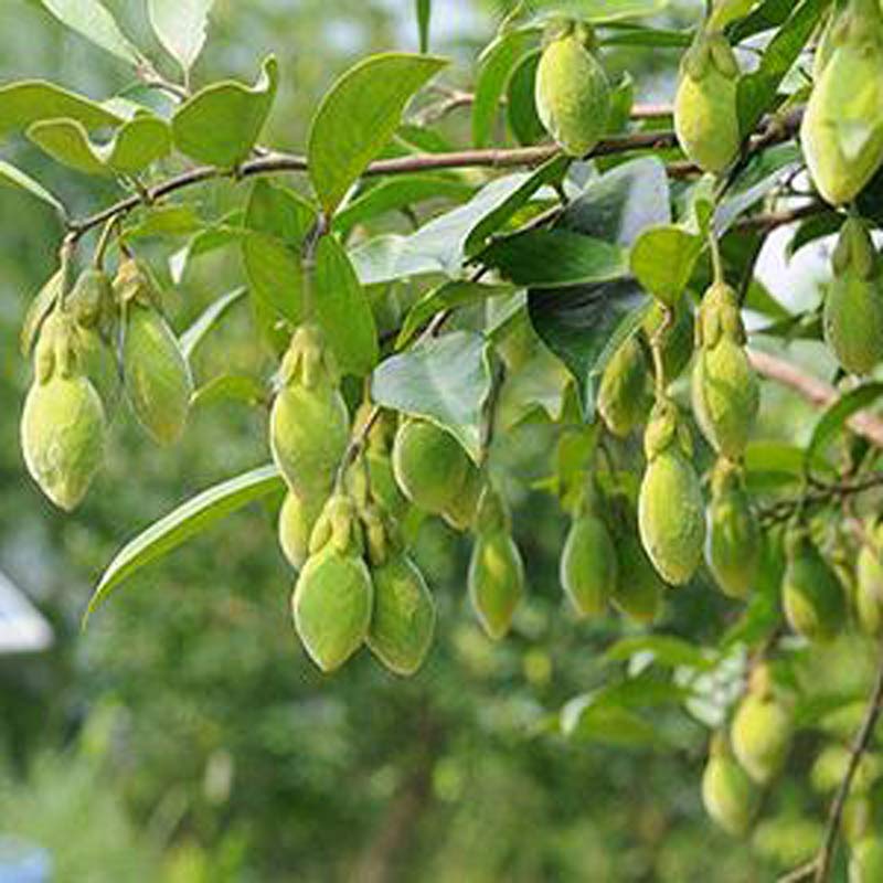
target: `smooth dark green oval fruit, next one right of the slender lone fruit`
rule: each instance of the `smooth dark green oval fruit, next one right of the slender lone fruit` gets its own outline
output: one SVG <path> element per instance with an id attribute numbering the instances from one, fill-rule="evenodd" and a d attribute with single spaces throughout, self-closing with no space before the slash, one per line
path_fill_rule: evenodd
<path id="1" fill-rule="evenodd" d="M 574 519 L 561 553 L 561 584 L 579 616 L 603 614 L 616 592 L 616 549 L 607 525 L 589 512 Z"/>

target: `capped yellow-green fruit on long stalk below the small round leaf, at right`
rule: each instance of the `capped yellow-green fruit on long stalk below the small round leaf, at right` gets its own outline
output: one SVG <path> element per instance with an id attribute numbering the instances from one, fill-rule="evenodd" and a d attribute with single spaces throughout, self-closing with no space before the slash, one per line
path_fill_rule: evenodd
<path id="1" fill-rule="evenodd" d="M 700 344 L 693 366 L 693 413 L 719 454 L 737 460 L 745 453 L 760 390 L 745 353 L 745 330 L 736 292 L 714 284 L 705 292 L 696 322 Z"/>

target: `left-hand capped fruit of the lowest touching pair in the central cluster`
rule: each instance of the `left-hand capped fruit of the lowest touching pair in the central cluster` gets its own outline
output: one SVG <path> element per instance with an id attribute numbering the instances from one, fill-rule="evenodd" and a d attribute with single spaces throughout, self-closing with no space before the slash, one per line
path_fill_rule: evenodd
<path id="1" fill-rule="evenodd" d="M 352 501 L 332 497 L 310 538 L 310 556 L 291 597 L 295 627 L 325 672 L 340 668 L 368 635 L 374 588 L 362 560 Z"/>

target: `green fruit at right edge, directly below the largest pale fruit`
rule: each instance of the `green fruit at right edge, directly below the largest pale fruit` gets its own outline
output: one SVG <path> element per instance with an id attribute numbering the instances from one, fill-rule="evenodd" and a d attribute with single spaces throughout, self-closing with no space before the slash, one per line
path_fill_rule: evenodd
<path id="1" fill-rule="evenodd" d="M 883 359 L 883 288 L 874 245 L 860 219 L 843 223 L 831 263 L 825 340 L 847 371 L 866 374 Z"/>

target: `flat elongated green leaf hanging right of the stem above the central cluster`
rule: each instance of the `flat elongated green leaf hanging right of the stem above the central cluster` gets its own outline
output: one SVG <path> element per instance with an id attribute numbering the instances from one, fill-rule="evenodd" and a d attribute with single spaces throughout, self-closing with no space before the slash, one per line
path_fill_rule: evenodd
<path id="1" fill-rule="evenodd" d="M 371 304 L 338 240 L 322 236 L 316 249 L 312 306 L 344 373 L 362 376 L 377 363 L 377 329 Z"/>

